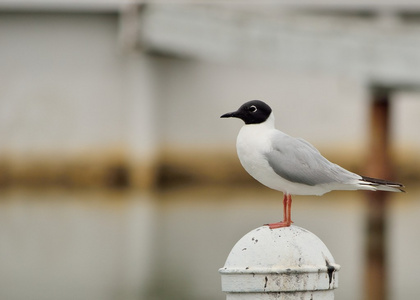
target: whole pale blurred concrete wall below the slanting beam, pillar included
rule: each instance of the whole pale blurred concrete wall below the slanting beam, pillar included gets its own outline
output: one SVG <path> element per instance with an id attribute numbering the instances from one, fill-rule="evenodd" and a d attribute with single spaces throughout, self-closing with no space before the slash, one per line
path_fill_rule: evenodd
<path id="1" fill-rule="evenodd" d="M 220 174 L 220 155 L 239 170 L 234 143 L 241 123 L 219 116 L 250 99 L 268 102 L 281 130 L 334 158 L 351 154 L 360 161 L 367 145 L 365 77 L 162 55 L 141 37 L 140 47 L 127 49 L 121 20 L 117 12 L 1 13 L 3 181 L 25 172 L 37 177 L 40 165 L 53 165 L 46 181 L 66 168 L 74 174 L 87 168 L 106 181 L 98 174 L 107 167 L 86 166 L 129 165 L 134 181 L 147 185 L 158 160 L 182 168 L 201 157 L 196 170 L 205 172 L 211 161 L 209 173 Z M 418 95 L 396 98 L 402 101 L 393 112 L 395 140 L 405 149 L 420 147 Z"/>

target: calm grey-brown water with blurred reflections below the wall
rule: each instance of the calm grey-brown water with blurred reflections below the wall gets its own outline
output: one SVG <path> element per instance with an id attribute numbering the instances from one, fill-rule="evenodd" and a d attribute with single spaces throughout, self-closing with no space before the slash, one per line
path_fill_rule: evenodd
<path id="1" fill-rule="evenodd" d="M 420 292 L 419 189 L 392 194 L 390 299 Z M 2 191 L 0 299 L 225 299 L 217 270 L 244 234 L 281 219 L 281 193 Z M 363 192 L 294 197 L 292 219 L 341 265 L 336 298 L 362 299 Z"/>

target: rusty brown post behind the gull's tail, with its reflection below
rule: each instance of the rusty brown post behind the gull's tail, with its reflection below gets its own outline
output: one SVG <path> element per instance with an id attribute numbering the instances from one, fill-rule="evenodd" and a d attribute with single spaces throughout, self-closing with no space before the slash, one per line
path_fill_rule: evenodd
<path id="1" fill-rule="evenodd" d="M 373 88 L 370 104 L 370 157 L 367 175 L 389 179 L 389 114 L 391 90 Z M 367 192 L 368 212 L 366 228 L 365 299 L 387 299 L 386 253 L 386 192 Z"/>

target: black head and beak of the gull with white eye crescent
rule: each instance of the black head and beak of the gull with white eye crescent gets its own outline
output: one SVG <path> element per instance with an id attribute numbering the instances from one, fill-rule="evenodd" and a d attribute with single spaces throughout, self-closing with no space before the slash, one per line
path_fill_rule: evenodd
<path id="1" fill-rule="evenodd" d="M 271 114 L 271 108 L 260 100 L 244 103 L 237 111 L 227 113 L 221 118 L 239 118 L 245 124 L 260 124 L 265 122 Z"/>

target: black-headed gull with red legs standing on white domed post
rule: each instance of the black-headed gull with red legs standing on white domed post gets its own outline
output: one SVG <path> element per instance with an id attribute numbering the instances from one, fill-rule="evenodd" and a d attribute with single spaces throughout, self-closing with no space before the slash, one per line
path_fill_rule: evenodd
<path id="1" fill-rule="evenodd" d="M 310 143 L 277 130 L 274 114 L 266 103 L 252 100 L 221 118 L 239 118 L 236 150 L 244 169 L 263 185 L 281 191 L 283 221 L 269 228 L 288 227 L 292 195 L 323 195 L 332 190 L 404 192 L 400 183 L 360 176 L 327 160 Z"/>

